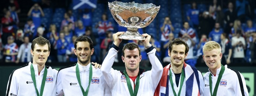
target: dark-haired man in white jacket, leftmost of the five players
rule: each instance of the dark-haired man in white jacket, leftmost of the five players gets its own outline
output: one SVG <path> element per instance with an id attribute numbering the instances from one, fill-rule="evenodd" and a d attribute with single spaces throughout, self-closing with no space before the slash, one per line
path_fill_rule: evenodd
<path id="1" fill-rule="evenodd" d="M 53 96 L 56 95 L 58 70 L 45 66 L 50 55 L 50 42 L 44 37 L 32 41 L 30 53 L 33 62 L 29 62 L 12 71 L 6 96 Z"/>

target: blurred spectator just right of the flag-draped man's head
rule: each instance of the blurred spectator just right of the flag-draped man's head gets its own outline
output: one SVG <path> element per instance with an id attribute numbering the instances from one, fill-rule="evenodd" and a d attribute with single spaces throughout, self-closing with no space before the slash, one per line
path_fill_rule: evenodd
<path id="1" fill-rule="evenodd" d="M 183 34 L 182 39 L 188 44 L 189 47 L 187 58 L 185 58 L 184 61 L 190 66 L 195 66 L 196 60 L 194 60 L 193 49 L 196 43 L 187 33 Z"/>

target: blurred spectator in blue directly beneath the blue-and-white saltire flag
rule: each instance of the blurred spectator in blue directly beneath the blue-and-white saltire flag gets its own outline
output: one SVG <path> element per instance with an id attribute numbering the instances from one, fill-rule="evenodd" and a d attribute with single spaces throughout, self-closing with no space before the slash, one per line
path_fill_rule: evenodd
<path id="1" fill-rule="evenodd" d="M 84 27 L 92 26 L 92 11 L 90 9 L 84 9 L 84 12 L 81 14 L 80 20 L 83 21 Z"/>

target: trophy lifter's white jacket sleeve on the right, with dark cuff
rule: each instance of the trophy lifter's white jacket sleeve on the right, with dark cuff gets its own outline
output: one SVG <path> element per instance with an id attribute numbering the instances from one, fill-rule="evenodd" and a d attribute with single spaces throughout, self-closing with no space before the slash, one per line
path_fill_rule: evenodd
<path id="1" fill-rule="evenodd" d="M 150 82 L 152 84 L 153 89 L 156 90 L 156 87 L 162 77 L 164 68 L 162 66 L 162 61 L 156 54 L 156 49 L 153 46 L 149 47 L 145 51 L 147 52 L 149 61 L 152 65 Z"/>

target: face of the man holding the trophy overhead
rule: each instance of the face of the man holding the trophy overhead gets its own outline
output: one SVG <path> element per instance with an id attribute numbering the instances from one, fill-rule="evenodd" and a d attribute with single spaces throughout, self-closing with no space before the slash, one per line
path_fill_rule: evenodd
<path id="1" fill-rule="evenodd" d="M 126 70 L 135 71 L 139 69 L 139 63 L 141 61 L 141 55 L 139 54 L 138 48 L 133 50 L 124 50 L 124 56 L 122 56 L 122 60 L 125 64 Z"/>

